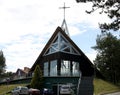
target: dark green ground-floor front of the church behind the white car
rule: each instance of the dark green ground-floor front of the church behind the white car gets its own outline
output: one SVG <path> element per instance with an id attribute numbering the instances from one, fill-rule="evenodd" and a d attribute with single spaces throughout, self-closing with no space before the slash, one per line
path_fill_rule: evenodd
<path id="1" fill-rule="evenodd" d="M 55 95 L 76 95 L 79 77 L 46 77 L 44 87 Z"/>

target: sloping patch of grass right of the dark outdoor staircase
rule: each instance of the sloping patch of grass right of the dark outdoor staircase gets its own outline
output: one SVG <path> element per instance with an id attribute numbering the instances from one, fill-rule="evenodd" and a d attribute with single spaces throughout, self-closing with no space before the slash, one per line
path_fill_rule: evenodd
<path id="1" fill-rule="evenodd" d="M 94 79 L 94 94 L 100 95 L 105 93 L 120 91 L 120 87 L 101 79 Z"/>

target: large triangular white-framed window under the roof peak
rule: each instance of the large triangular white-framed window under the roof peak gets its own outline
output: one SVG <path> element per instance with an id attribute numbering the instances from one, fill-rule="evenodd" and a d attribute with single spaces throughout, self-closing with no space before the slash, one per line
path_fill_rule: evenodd
<path id="1" fill-rule="evenodd" d="M 44 55 L 49 55 L 59 51 L 80 55 L 80 53 L 75 49 L 75 47 L 61 33 L 58 33 L 56 35 Z"/>

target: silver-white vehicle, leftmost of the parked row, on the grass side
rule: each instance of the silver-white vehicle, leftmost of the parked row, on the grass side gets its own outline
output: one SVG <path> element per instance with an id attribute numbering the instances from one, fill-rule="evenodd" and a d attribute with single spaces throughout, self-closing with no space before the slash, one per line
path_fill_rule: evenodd
<path id="1" fill-rule="evenodd" d="M 28 88 L 18 86 L 11 91 L 12 95 L 28 95 Z"/>

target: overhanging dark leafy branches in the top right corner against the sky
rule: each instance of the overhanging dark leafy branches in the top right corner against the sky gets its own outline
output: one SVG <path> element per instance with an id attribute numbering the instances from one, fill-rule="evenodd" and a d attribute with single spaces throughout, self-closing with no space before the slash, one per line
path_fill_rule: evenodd
<path id="1" fill-rule="evenodd" d="M 107 30 L 117 31 L 120 29 L 120 0 L 76 0 L 77 2 L 92 2 L 92 13 L 101 9 L 100 14 L 105 13 L 111 19 L 111 23 L 100 24 L 100 29 L 105 32 Z"/>

